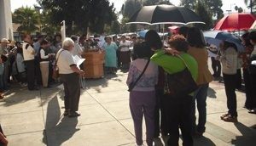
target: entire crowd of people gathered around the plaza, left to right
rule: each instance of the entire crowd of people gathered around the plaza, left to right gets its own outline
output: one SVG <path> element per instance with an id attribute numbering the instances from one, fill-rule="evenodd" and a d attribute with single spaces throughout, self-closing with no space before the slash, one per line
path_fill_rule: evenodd
<path id="1" fill-rule="evenodd" d="M 163 42 L 156 31 L 140 36 L 106 36 L 104 42 L 86 36 L 71 36 L 61 42 L 61 35 L 32 39 L 23 35 L 23 42 L 1 39 L 0 92 L 8 90 L 10 83 L 19 82 L 28 90 L 50 87 L 58 79 L 52 78 L 58 66 L 60 81 L 64 85 L 64 116 L 80 114 L 80 76 L 83 65 L 76 65 L 74 56 L 81 58 L 86 49 L 105 52 L 105 73 L 115 74 L 117 69 L 129 69 L 127 85 L 137 82 L 130 93 L 130 110 L 134 121 L 137 145 L 143 145 L 143 116 L 146 122 L 146 143 L 153 145 L 154 138 L 169 135 L 168 145 L 178 145 L 179 128 L 183 145 L 193 145 L 193 137 L 206 132 L 207 90 L 214 77 L 223 74 L 228 112 L 223 121 L 236 122 L 236 88 L 241 85 L 241 68 L 245 83 L 245 108 L 256 113 L 256 32 L 241 36 L 244 52 L 236 43 L 223 41 L 217 47 L 217 57 L 212 57 L 211 74 L 208 68 L 208 51 L 212 46 L 205 42 L 202 31 L 196 27 L 180 28 L 178 34 L 166 37 Z M 208 49 L 208 50 L 207 50 Z M 189 69 L 197 84 L 193 93 L 173 97 L 166 93 L 166 75 Z M 1 97 L 3 98 L 2 94 Z M 196 108 L 195 108 L 196 107 Z M 195 110 L 198 110 L 196 120 Z"/>

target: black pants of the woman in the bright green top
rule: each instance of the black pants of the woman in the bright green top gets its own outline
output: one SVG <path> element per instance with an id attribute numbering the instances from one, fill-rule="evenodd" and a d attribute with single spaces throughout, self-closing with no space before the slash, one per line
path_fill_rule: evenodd
<path id="1" fill-rule="evenodd" d="M 178 145 L 179 128 L 183 136 L 183 146 L 192 146 L 192 100 L 193 97 L 186 95 L 183 97 L 166 97 L 168 106 L 166 108 L 166 120 L 168 121 L 168 132 L 170 138 L 168 146 Z"/>

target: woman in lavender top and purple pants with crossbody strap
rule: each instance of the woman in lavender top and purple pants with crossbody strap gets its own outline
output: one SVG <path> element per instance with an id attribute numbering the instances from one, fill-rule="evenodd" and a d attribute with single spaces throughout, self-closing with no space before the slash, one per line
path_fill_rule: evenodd
<path id="1" fill-rule="evenodd" d="M 147 42 L 136 43 L 134 53 L 137 59 L 131 62 L 126 84 L 136 83 L 130 93 L 130 110 L 134 123 L 136 143 L 143 145 L 143 115 L 146 122 L 146 142 L 153 145 L 154 139 L 154 86 L 158 81 L 158 66 L 150 61 L 152 51 Z M 144 73 L 143 73 L 143 70 Z M 138 77 L 139 81 L 137 81 Z"/>

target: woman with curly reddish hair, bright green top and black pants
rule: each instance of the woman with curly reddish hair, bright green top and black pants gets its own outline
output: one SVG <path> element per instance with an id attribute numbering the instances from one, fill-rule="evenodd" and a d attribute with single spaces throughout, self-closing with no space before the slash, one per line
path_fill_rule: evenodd
<path id="1" fill-rule="evenodd" d="M 156 51 L 151 60 L 156 65 L 160 65 L 166 71 L 166 74 L 170 75 L 185 70 L 187 66 L 194 81 L 196 81 L 198 72 L 197 62 L 189 53 L 186 53 L 189 49 L 189 42 L 182 35 L 173 35 L 169 40 L 169 45 L 170 48 L 180 53 L 179 57 L 168 54 L 169 51 L 165 49 Z M 175 97 L 166 93 L 165 96 L 164 109 L 168 124 L 166 132 L 170 134 L 167 145 L 178 145 L 179 128 L 181 128 L 182 132 L 183 145 L 193 145 L 191 116 L 193 93 Z"/>

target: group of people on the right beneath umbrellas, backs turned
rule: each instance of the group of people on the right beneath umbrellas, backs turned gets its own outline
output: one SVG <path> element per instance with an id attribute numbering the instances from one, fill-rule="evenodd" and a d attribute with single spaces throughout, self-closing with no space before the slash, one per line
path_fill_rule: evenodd
<path id="1" fill-rule="evenodd" d="M 179 34 L 170 36 L 165 43 L 161 42 L 155 31 L 148 31 L 145 41 L 134 45 L 136 59 L 131 62 L 126 81 L 131 86 L 143 75 L 130 93 L 137 145 L 143 145 L 143 116 L 146 122 L 146 143 L 149 146 L 160 134 L 169 135 L 168 145 L 178 145 L 179 128 L 183 145 L 193 145 L 193 138 L 201 138 L 207 128 L 207 89 L 214 77 L 221 76 L 220 72 L 223 74 L 228 108 L 227 114 L 221 115 L 220 119 L 226 122 L 238 121 L 235 91 L 240 88 L 237 85 L 241 84 L 241 67 L 247 98 L 245 108 L 255 114 L 255 38 L 256 32 L 241 36 L 244 52 L 238 51 L 234 42 L 221 42 L 217 57 L 212 60 L 213 68 L 218 66 L 218 69 L 212 75 L 208 68 L 209 44 L 205 42 L 201 30 L 183 27 Z M 148 59 L 150 62 L 147 65 Z M 186 66 L 198 88 L 193 93 L 173 97 L 166 93 L 165 84 L 169 79 L 165 75 L 175 74 Z M 198 110 L 197 122 L 195 107 Z"/>

